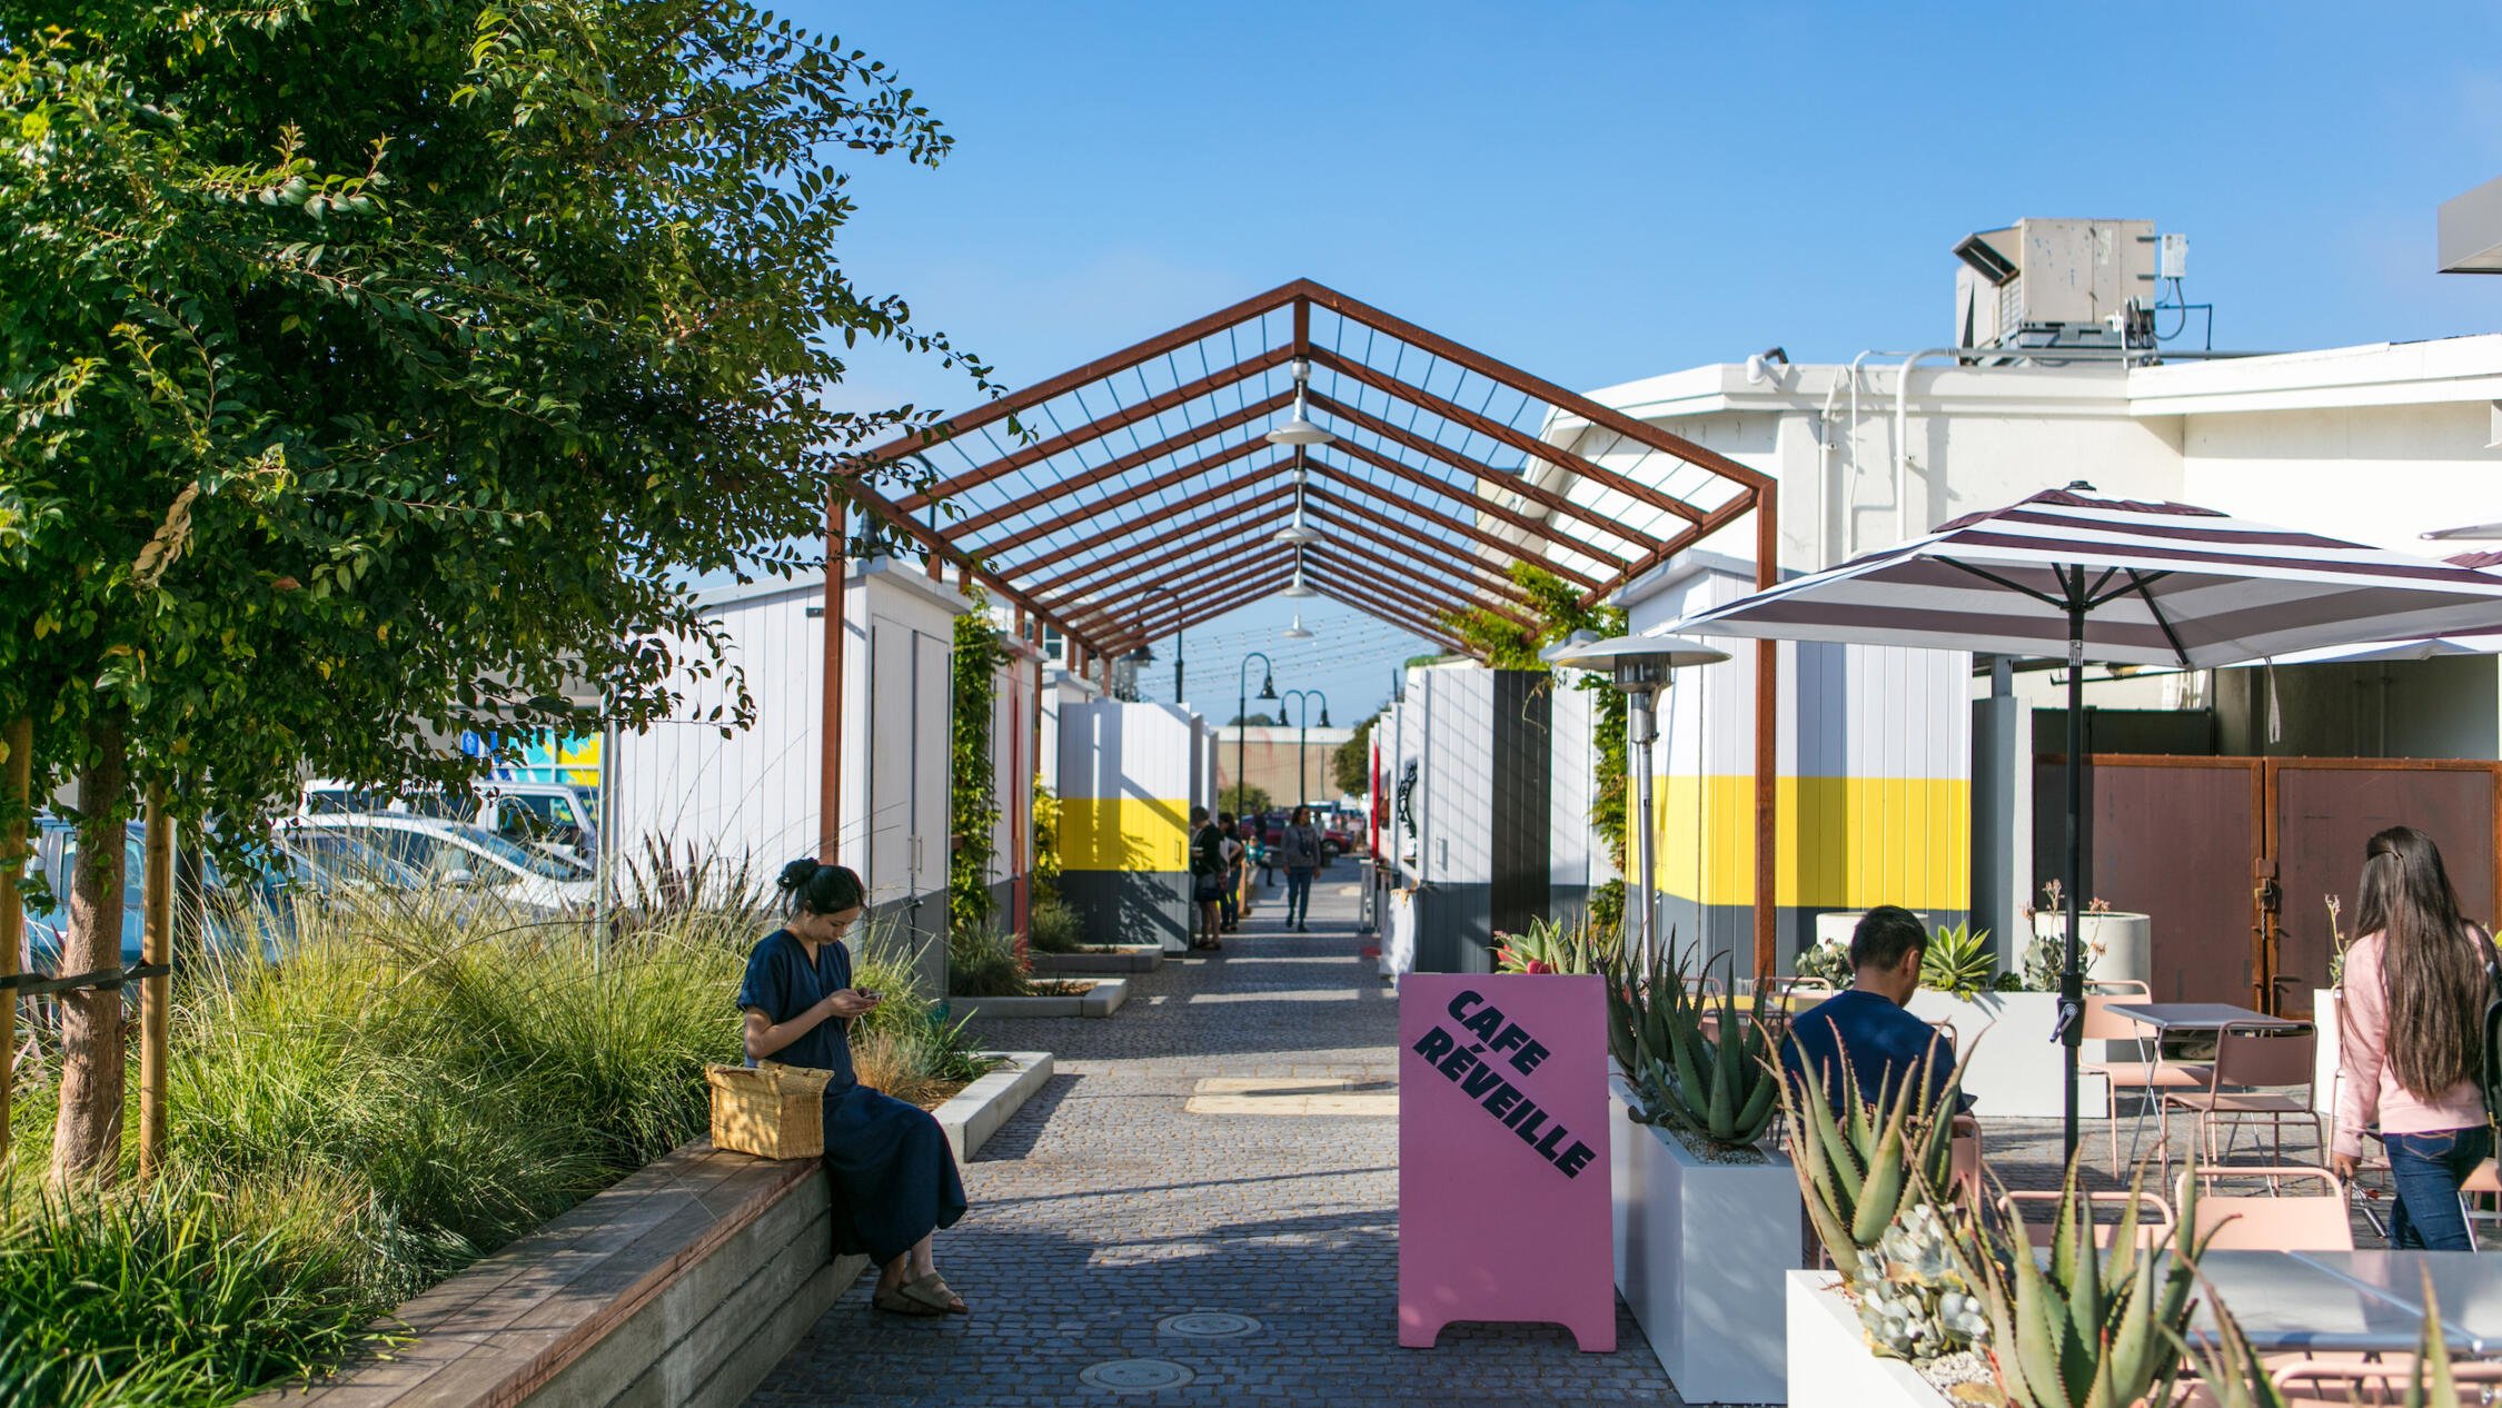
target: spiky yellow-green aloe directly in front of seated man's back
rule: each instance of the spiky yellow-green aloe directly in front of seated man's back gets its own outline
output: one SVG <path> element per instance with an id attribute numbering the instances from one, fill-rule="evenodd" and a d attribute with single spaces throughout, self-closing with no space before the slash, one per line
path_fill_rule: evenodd
<path id="1" fill-rule="evenodd" d="M 1879 1273 L 1861 1263 L 1907 1198 L 1939 1205 L 1949 1200 L 1954 1105 L 1964 1070 L 1957 1065 L 1932 1093 L 1924 1055 L 1869 1103 L 1851 1063 L 1844 1058 L 1839 1065 L 1841 1115 L 1834 1115 L 1814 1075 L 1774 1085 L 1789 1115 L 1789 1158 L 1799 1170 L 1806 1220 L 1841 1278 L 1859 1285 Z"/>

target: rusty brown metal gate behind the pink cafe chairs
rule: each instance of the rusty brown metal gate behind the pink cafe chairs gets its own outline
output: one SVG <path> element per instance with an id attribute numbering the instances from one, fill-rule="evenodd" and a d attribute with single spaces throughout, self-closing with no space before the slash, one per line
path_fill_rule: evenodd
<path id="1" fill-rule="evenodd" d="M 2039 875 L 2059 870 L 2062 763 L 2034 768 Z M 2329 978 L 2327 895 L 2344 903 L 2352 940 L 2362 845 L 2387 825 L 2432 835 L 2467 915 L 2494 918 L 2502 763 L 2134 753 L 2089 763 L 2087 898 L 2152 918 L 2157 1000 L 2307 1015 Z"/>

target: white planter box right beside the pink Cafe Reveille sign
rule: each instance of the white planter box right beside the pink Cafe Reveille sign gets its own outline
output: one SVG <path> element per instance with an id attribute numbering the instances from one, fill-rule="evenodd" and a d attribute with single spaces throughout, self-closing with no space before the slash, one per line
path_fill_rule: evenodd
<path id="1" fill-rule="evenodd" d="M 1781 1273 L 1799 1265 L 1786 1158 L 1704 1163 L 1629 1113 L 1609 1075 L 1616 1288 L 1686 1403 L 1786 1403 Z"/>

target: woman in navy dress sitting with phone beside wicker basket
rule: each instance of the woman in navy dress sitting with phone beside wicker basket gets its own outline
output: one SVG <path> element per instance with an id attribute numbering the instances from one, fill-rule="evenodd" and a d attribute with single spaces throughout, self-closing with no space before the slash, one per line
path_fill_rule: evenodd
<path id="1" fill-rule="evenodd" d="M 963 1178 L 946 1130 L 921 1105 L 861 1085 L 851 1073 L 851 1023 L 878 993 L 851 985 L 843 935 L 861 923 L 861 878 L 813 858 L 776 880 L 791 918 L 748 955 L 738 1008 L 748 1063 L 781 1060 L 831 1070 L 826 1085 L 826 1178 L 833 1183 L 833 1253 L 868 1253 L 878 1285 L 868 1303 L 896 1315 L 963 1315 L 938 1278 L 931 1235 L 963 1215 Z"/>

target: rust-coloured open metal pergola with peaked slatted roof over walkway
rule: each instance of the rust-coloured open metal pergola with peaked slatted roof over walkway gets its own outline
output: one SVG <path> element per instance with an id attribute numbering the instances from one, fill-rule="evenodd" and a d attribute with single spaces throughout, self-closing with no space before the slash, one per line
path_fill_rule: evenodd
<path id="1" fill-rule="evenodd" d="M 1301 400 L 1299 400 L 1301 393 Z M 1326 443 L 1274 443 L 1304 405 Z M 866 470 L 918 460 L 928 488 Z M 823 788 L 841 795 L 848 513 L 913 543 L 1101 675 L 1156 635 L 1289 588 L 1466 650 L 1451 613 L 1531 625 L 1511 563 L 1599 603 L 1754 515 L 1774 480 L 1311 280 L 1221 308 L 863 455 L 826 510 Z M 1296 545 L 1276 535 L 1304 525 Z M 1774 645 L 1756 648 L 1756 965 L 1774 960 Z M 1646 818 L 1649 823 L 1649 818 Z"/>

